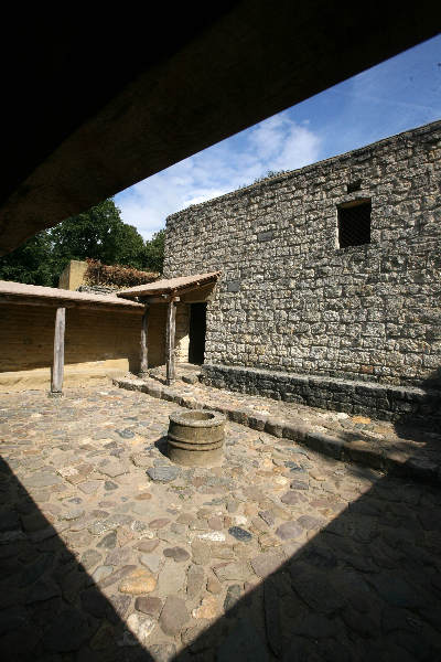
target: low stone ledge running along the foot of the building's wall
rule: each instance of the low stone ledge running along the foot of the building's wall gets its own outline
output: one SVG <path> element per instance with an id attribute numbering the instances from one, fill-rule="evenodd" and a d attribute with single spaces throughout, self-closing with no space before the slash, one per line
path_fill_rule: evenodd
<path id="1" fill-rule="evenodd" d="M 441 429 L 441 391 L 297 375 L 232 365 L 202 366 L 204 384 L 376 419 Z"/>

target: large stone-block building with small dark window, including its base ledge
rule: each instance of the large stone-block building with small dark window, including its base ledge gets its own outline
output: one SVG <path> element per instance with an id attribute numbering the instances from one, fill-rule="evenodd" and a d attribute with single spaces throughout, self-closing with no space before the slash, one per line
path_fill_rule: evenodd
<path id="1" fill-rule="evenodd" d="M 164 277 L 222 271 L 178 306 L 180 360 L 340 410 L 439 408 L 440 141 L 438 121 L 169 216 Z"/>

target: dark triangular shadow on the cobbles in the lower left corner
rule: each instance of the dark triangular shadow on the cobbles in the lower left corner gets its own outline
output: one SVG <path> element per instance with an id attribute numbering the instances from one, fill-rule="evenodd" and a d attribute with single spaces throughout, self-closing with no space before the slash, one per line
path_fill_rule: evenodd
<path id="1" fill-rule="evenodd" d="M 0 659 L 152 661 L 3 460 L 0 495 Z"/>

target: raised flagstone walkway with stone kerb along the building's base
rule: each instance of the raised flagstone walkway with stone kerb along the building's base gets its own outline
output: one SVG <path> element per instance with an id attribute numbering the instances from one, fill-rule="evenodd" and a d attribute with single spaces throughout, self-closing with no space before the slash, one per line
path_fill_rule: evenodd
<path id="1" fill-rule="evenodd" d="M 198 366 L 178 364 L 176 378 L 165 385 L 164 366 L 139 378 L 128 374 L 114 380 L 120 388 L 139 391 L 191 409 L 211 408 L 230 420 L 275 437 L 302 442 L 336 459 L 349 459 L 375 469 L 441 483 L 441 430 L 433 421 L 400 416 L 395 423 L 373 420 L 276 401 L 259 395 L 215 388 L 200 382 Z M 362 408 L 363 409 L 363 408 Z"/>

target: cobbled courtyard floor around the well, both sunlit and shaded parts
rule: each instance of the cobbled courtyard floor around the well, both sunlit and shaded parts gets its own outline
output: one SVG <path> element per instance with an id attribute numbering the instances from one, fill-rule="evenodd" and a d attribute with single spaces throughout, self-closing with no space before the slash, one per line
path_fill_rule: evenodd
<path id="1" fill-rule="evenodd" d="M 232 421 L 175 467 L 178 408 L 0 396 L 1 660 L 441 659 L 439 488 Z"/>

